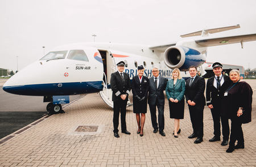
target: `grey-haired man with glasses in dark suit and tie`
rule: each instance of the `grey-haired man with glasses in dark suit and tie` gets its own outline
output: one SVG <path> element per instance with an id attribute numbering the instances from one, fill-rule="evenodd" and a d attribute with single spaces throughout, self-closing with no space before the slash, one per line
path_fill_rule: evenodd
<path id="1" fill-rule="evenodd" d="M 152 69 L 153 76 L 149 79 L 150 89 L 148 93 L 148 105 L 150 107 L 151 122 L 154 128 L 154 133 L 158 132 L 162 136 L 164 134 L 164 93 L 168 79 L 159 76 L 159 70 L 157 67 Z M 156 122 L 156 106 L 158 107 L 158 123 Z"/>

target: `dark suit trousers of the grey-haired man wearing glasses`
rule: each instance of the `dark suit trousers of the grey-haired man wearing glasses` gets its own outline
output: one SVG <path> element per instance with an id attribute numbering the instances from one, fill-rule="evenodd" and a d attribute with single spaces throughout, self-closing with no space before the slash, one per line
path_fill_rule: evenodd
<path id="1" fill-rule="evenodd" d="M 151 114 L 151 122 L 154 129 L 158 129 L 159 123 L 159 132 L 164 130 L 164 104 L 159 104 L 158 100 L 156 100 L 156 104 L 150 106 L 150 114 Z M 156 122 L 156 106 L 158 107 L 158 123 Z"/>

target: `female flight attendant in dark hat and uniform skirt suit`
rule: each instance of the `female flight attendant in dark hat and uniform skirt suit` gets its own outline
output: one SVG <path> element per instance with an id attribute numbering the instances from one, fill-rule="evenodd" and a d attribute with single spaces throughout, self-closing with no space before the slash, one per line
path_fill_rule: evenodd
<path id="1" fill-rule="evenodd" d="M 138 66 L 138 75 L 133 77 L 131 89 L 133 91 L 133 113 L 136 114 L 138 123 L 137 134 L 143 136 L 143 127 L 147 113 L 147 94 L 149 89 L 149 80 L 143 76 L 143 66 Z M 141 114 L 141 115 L 140 115 Z"/>

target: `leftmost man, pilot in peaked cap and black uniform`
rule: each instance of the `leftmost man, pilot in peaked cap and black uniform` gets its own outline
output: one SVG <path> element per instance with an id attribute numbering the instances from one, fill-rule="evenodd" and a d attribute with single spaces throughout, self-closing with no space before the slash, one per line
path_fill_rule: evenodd
<path id="1" fill-rule="evenodd" d="M 125 62 L 121 61 L 117 63 L 118 71 L 111 74 L 110 86 L 113 91 L 112 101 L 114 103 L 114 115 L 113 115 L 113 125 L 114 125 L 114 136 L 119 138 L 118 135 L 118 125 L 119 125 L 119 112 L 121 112 L 121 129 L 122 133 L 130 135 L 131 133 L 126 129 L 126 105 L 128 101 L 128 96 L 131 90 L 131 82 L 129 74 L 123 72 L 125 70 Z"/>

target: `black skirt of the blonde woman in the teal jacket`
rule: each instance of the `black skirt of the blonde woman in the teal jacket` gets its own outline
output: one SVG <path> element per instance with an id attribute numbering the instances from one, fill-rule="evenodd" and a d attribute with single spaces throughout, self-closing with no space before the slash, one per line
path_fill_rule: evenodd
<path id="1" fill-rule="evenodd" d="M 170 118 L 184 119 L 184 99 L 179 102 L 169 101 Z"/>

